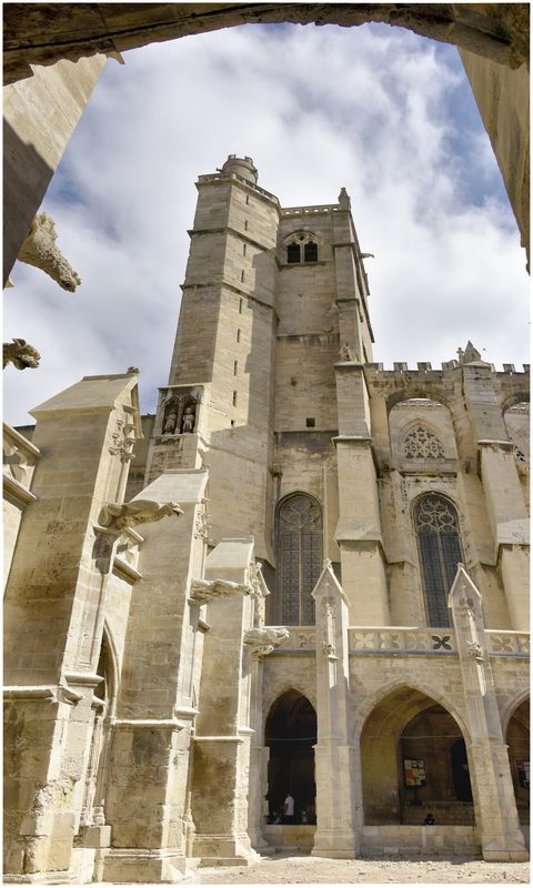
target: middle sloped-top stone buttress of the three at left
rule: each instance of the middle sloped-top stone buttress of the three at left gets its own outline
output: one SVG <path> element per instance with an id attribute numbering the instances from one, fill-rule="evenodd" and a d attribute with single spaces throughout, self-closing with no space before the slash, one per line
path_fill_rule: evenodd
<path id="1" fill-rule="evenodd" d="M 182 515 L 142 526 L 109 757 L 103 880 L 173 882 L 188 876 L 190 751 L 202 662 L 200 605 L 188 598 L 204 557 L 208 473 L 161 475 L 132 501 L 179 502 Z"/>

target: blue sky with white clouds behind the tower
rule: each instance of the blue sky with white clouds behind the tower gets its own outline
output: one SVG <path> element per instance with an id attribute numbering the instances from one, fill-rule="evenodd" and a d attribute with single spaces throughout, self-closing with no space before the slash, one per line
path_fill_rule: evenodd
<path id="1" fill-rule="evenodd" d="M 370 283 L 374 361 L 415 367 L 472 340 L 501 370 L 529 361 L 525 253 L 454 47 L 389 26 L 253 24 L 108 61 L 42 210 L 81 276 L 74 294 L 17 263 L 4 418 L 84 375 L 140 369 L 143 413 L 168 382 L 199 174 L 253 158 L 282 206 L 341 186 Z"/>

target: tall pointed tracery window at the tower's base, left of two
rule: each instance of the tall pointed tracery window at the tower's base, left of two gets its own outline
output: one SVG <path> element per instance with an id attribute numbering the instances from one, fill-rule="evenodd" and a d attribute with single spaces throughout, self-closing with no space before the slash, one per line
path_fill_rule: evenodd
<path id="1" fill-rule="evenodd" d="M 322 565 L 322 508 L 309 494 L 288 496 L 276 519 L 276 618 L 282 624 L 314 624 L 311 593 Z"/>

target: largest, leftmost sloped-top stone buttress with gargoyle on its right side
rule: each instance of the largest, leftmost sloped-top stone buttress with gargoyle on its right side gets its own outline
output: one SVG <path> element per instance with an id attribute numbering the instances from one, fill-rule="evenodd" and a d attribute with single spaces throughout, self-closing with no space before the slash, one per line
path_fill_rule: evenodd
<path id="1" fill-rule="evenodd" d="M 100 376 L 32 411 L 43 458 L 4 606 L 4 871 L 18 880 L 73 878 L 113 556 L 100 557 L 98 515 L 122 483 L 124 430 L 140 434 L 137 404 L 134 376 Z"/>

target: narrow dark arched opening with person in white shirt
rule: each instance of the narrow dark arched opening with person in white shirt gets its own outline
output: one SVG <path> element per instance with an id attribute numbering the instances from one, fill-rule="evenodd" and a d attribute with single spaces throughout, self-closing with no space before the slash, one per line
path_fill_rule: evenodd
<path id="1" fill-rule="evenodd" d="M 314 749 L 316 713 L 303 694 L 288 690 L 271 706 L 264 730 L 270 748 L 269 820 L 283 821 L 283 801 L 294 799 L 295 824 L 316 823 Z"/>

